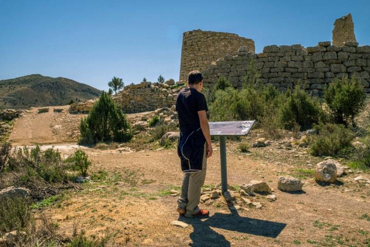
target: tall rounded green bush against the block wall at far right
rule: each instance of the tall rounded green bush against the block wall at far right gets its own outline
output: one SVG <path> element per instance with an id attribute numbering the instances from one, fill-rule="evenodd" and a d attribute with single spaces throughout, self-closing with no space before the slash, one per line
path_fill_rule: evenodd
<path id="1" fill-rule="evenodd" d="M 364 108 L 366 93 L 360 81 L 353 77 L 348 80 L 334 79 L 324 91 L 324 98 L 335 123 L 346 123 L 354 119 Z"/>

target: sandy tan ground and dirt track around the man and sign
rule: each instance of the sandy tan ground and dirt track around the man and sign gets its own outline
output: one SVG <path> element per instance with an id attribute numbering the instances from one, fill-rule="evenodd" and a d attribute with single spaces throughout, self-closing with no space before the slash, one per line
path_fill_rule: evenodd
<path id="1" fill-rule="evenodd" d="M 57 114 L 26 114 L 16 120 L 10 139 L 16 145 L 59 144 L 55 147 L 64 154 L 80 148 L 51 129 L 59 120 L 62 129 L 71 126 L 67 119 L 76 126 L 81 115 L 63 113 L 66 117 L 59 118 Z M 253 138 L 258 138 L 257 131 L 246 141 Z M 370 218 L 364 216 L 370 215 L 370 186 L 353 180 L 358 175 L 369 178 L 369 174 L 348 173 L 329 186 L 305 176 L 303 192 L 286 193 L 277 189 L 279 175 L 297 175 L 298 169 L 312 169 L 319 159 L 306 149 L 284 149 L 277 143 L 242 154 L 237 144 L 227 145 L 228 182 L 267 182 L 276 201 L 269 202 L 263 195 L 249 198 L 261 202 L 262 209 L 244 206 L 230 211 L 223 199 L 217 199 L 201 204 L 211 211 L 210 218 L 179 218 L 176 197 L 167 193 L 181 184 L 176 149 L 130 152 L 121 147 L 84 148 L 93 161 L 92 181 L 83 184 L 81 191 L 66 192 L 45 211 L 52 212 L 61 233 L 71 234 L 73 223 L 79 222 L 87 234 L 102 235 L 107 229 L 116 233 L 116 242 L 122 246 L 370 246 Z M 219 152 L 214 145 L 206 185 L 220 181 Z M 170 225 L 177 219 L 189 226 Z"/>

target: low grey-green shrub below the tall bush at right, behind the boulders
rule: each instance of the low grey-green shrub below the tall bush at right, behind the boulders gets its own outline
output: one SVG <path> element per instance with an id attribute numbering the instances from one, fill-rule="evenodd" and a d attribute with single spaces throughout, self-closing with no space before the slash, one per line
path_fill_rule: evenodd
<path id="1" fill-rule="evenodd" d="M 338 156 L 347 154 L 352 148 L 355 135 L 343 125 L 327 123 L 315 127 L 318 135 L 310 136 L 311 153 L 315 156 Z"/>

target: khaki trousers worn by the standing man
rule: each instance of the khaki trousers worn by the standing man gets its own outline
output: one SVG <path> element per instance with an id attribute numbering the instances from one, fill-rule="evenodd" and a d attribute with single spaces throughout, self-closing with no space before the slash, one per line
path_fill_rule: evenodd
<path id="1" fill-rule="evenodd" d="M 199 172 L 184 173 L 181 195 L 177 200 L 179 208 L 185 208 L 186 214 L 194 215 L 199 211 L 200 190 L 206 180 L 207 157 L 204 147 L 202 170 Z"/>

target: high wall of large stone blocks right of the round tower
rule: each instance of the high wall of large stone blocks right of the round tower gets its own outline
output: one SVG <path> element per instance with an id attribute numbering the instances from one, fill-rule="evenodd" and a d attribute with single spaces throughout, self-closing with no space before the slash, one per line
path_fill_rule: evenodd
<path id="1" fill-rule="evenodd" d="M 270 45 L 260 54 L 247 52 L 241 47 L 238 55 L 227 55 L 202 70 L 205 91 L 213 90 L 221 76 L 226 77 L 235 88 L 242 88 L 251 60 L 261 74 L 263 83 L 271 83 L 281 91 L 292 88 L 302 81 L 305 90 L 322 96 L 334 78 L 356 76 L 361 79 L 365 91 L 370 93 L 370 46 L 358 46 L 345 42 L 344 46 L 332 46 L 319 42 L 318 46 L 304 48 L 302 45 Z"/>

